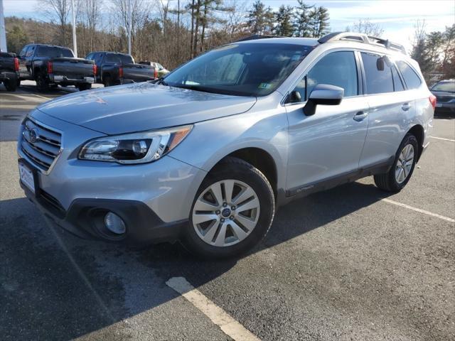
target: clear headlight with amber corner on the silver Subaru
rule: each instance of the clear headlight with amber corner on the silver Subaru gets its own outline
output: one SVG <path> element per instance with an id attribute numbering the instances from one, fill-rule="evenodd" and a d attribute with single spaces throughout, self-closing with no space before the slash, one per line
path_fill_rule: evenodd
<path id="1" fill-rule="evenodd" d="M 106 136 L 88 141 L 79 152 L 82 160 L 146 163 L 166 155 L 188 135 L 193 126 L 161 131 Z"/>

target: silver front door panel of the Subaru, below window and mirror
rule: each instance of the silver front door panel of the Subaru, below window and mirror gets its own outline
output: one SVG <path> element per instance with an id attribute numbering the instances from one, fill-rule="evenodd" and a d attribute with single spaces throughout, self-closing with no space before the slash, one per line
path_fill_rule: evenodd
<path id="1" fill-rule="evenodd" d="M 318 105 L 310 117 L 303 107 L 286 106 L 289 190 L 357 171 L 368 129 L 369 110 L 363 97 L 345 98 L 339 105 Z"/>

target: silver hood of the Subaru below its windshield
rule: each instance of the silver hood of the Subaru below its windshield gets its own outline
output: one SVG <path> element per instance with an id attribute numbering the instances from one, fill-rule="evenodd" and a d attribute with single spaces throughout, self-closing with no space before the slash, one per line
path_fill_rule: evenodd
<path id="1" fill-rule="evenodd" d="M 255 102 L 256 97 L 144 82 L 69 94 L 42 104 L 38 110 L 105 134 L 123 134 L 241 114 Z"/>

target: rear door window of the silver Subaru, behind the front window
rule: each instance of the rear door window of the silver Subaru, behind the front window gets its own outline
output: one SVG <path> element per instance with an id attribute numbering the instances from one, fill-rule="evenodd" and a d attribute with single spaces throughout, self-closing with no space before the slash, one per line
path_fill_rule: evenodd
<path id="1" fill-rule="evenodd" d="M 392 69 L 385 60 L 380 55 L 371 53 L 363 52 L 361 55 L 367 81 L 367 94 L 393 92 Z"/>

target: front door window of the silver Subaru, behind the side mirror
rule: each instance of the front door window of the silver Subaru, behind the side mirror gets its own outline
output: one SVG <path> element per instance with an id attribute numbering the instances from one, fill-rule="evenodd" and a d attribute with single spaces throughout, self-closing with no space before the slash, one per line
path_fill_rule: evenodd
<path id="1" fill-rule="evenodd" d="M 358 76 L 355 56 L 351 51 L 330 53 L 319 60 L 294 88 L 298 93 L 291 102 L 301 102 L 309 97 L 318 84 L 336 85 L 344 89 L 344 97 L 358 94 Z M 305 91 L 306 90 L 306 91 Z"/>

